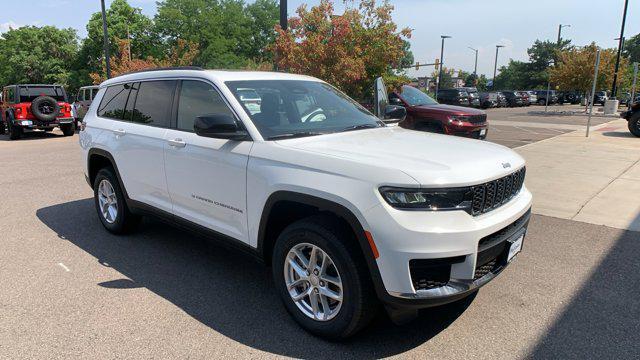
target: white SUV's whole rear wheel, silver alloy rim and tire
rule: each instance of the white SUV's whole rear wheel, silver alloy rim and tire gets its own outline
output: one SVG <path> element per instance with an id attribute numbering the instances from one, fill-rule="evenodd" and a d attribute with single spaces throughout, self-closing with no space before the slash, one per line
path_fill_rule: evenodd
<path id="1" fill-rule="evenodd" d="M 104 186 L 107 187 L 106 189 L 110 186 L 111 192 L 102 192 L 101 184 L 103 184 L 103 182 L 105 182 Z M 118 182 L 118 179 L 115 176 L 115 171 L 112 167 L 105 167 L 98 171 L 96 179 L 93 182 L 93 198 L 96 211 L 98 212 L 98 218 L 100 218 L 100 222 L 102 222 L 102 225 L 109 232 L 114 234 L 126 234 L 133 231 L 140 223 L 140 216 L 131 213 L 127 207 L 124 193 L 120 188 L 120 183 Z M 107 211 L 107 213 L 102 212 L 101 202 L 105 198 L 107 198 L 106 200 L 108 200 L 109 203 L 115 204 L 115 211 Z"/>

